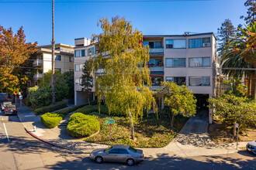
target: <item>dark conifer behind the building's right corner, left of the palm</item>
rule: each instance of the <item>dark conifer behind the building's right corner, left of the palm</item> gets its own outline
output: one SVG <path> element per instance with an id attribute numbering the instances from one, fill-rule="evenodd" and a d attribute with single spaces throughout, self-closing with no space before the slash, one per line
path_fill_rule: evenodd
<path id="1" fill-rule="evenodd" d="M 234 37 L 236 29 L 234 28 L 230 19 L 225 19 L 218 29 L 217 39 L 219 41 L 219 55 L 222 56 L 225 52 L 225 46 L 230 42 L 231 38 Z"/>

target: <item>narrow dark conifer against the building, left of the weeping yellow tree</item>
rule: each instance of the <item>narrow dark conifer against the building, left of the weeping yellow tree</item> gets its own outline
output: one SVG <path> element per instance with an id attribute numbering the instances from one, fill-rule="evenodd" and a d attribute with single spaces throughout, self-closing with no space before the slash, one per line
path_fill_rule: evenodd
<path id="1" fill-rule="evenodd" d="M 92 91 L 92 75 L 91 75 L 91 71 L 88 69 L 88 60 L 85 61 L 85 65 L 83 67 L 83 69 L 81 70 L 83 72 L 83 74 L 81 75 L 81 90 L 84 91 L 88 97 L 88 104 L 90 105 L 90 93 Z"/>

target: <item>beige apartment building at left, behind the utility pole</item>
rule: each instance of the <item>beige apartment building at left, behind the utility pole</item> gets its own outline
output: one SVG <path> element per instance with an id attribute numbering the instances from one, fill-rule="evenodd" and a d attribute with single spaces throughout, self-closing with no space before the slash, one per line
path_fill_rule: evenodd
<path id="1" fill-rule="evenodd" d="M 52 46 L 37 46 L 38 50 L 30 59 L 33 59 L 33 67 L 37 68 L 33 73 L 33 80 L 28 81 L 28 87 L 39 85 L 43 73 L 52 70 Z M 61 73 L 74 71 L 74 46 L 58 43 L 55 45 L 55 70 Z"/>

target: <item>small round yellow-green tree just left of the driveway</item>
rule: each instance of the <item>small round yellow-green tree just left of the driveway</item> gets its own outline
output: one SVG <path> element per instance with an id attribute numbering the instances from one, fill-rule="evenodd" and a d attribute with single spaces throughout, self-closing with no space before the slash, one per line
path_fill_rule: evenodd
<path id="1" fill-rule="evenodd" d="M 164 104 L 171 109 L 171 128 L 173 128 L 177 114 L 181 113 L 184 117 L 195 115 L 196 99 L 188 87 L 184 85 L 179 87 L 174 82 L 163 82 L 159 92 L 164 97 Z"/>

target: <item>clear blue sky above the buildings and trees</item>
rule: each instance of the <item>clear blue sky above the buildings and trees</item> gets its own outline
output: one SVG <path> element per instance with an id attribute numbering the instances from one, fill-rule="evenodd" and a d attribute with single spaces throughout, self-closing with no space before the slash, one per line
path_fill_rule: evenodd
<path id="1" fill-rule="evenodd" d="M 11 1 L 14 0 L 9 0 Z M 0 0 L 0 25 L 12 27 L 15 32 L 23 26 L 27 42 L 50 44 L 51 3 L 24 1 L 33 3 L 5 3 L 8 1 Z M 50 0 L 41 0 L 43 1 Z M 225 19 L 230 19 L 234 26 L 244 25 L 244 20 L 240 19 L 240 15 L 246 15 L 247 12 L 244 2 L 245 0 L 55 3 L 55 42 L 74 45 L 76 38 L 91 38 L 92 33 L 101 32 L 97 27 L 97 20 L 102 17 L 111 19 L 116 15 L 126 17 L 126 20 L 132 22 L 133 28 L 139 29 L 144 35 L 173 35 L 183 32 L 216 34 L 217 28 L 220 28 Z"/>

